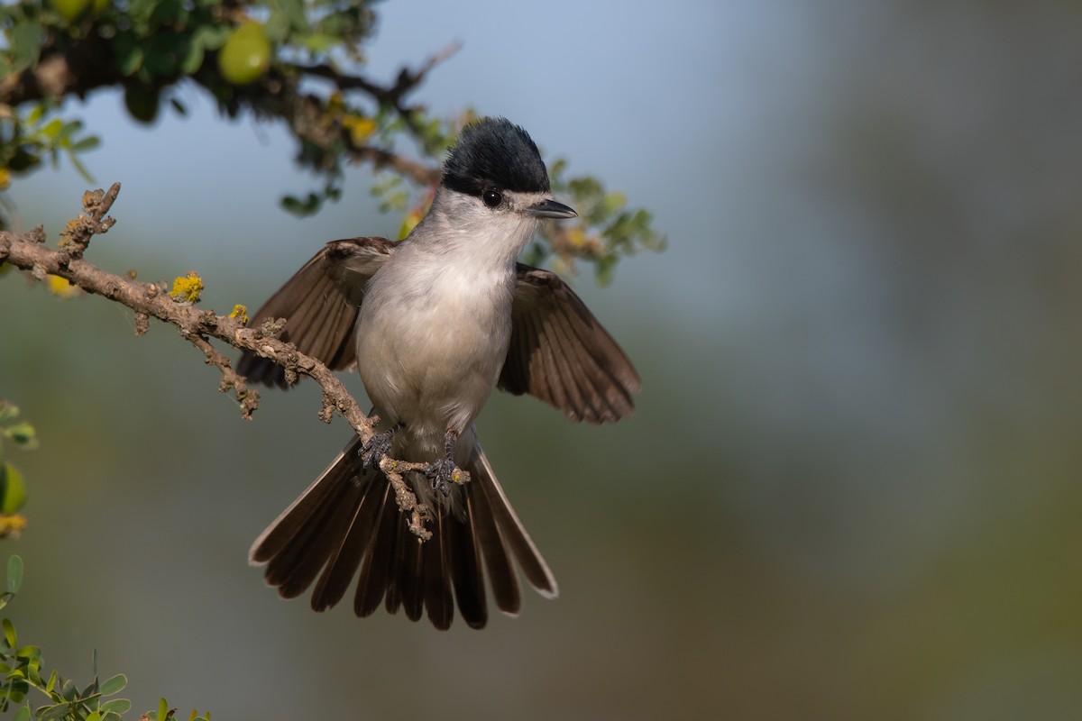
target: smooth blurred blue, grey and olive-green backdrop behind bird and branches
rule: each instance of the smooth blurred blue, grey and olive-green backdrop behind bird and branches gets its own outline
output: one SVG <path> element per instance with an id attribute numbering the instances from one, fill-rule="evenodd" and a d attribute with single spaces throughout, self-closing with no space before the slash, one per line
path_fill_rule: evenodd
<path id="1" fill-rule="evenodd" d="M 251 540 L 346 442 L 311 383 L 255 420 L 101 298 L 0 281 L 30 526 L 5 613 L 48 668 L 214 718 L 1073 719 L 1082 709 L 1082 4 L 386 2 L 369 71 L 461 40 L 417 99 L 526 126 L 655 213 L 576 289 L 636 415 L 493 396 L 478 427 L 560 584 L 446 633 L 285 602 Z M 394 235 L 358 169 L 300 221 L 276 128 L 102 93 L 89 258 L 258 307 L 327 240 Z M 87 184 L 17 179 L 55 242 Z M 356 376 L 346 383 L 360 392 Z M 97 589 L 87 592 L 87 589 Z"/>

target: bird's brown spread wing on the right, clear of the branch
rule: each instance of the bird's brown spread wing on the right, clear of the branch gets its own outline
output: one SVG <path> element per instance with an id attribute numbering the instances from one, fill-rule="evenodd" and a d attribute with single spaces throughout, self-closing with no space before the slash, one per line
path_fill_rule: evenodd
<path id="1" fill-rule="evenodd" d="M 631 415 L 642 382 L 612 336 L 555 273 L 520 263 L 516 271 L 499 387 L 540 398 L 572 420 Z"/>

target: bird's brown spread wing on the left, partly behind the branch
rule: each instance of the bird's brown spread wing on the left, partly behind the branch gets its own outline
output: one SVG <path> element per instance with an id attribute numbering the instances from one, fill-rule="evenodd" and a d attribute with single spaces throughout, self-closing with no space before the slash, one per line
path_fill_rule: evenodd
<path id="1" fill-rule="evenodd" d="M 394 249 L 385 238 L 332 240 L 263 304 L 249 326 L 285 318 L 280 339 L 332 370 L 349 368 L 356 360 L 353 326 L 365 286 Z M 285 369 L 251 350 L 241 355 L 237 372 L 250 380 L 287 387 Z"/>

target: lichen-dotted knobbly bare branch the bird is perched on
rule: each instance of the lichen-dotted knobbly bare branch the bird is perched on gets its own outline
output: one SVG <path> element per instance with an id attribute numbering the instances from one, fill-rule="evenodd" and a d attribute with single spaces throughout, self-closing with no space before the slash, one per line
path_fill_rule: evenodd
<path id="1" fill-rule="evenodd" d="M 253 350 L 286 369 L 287 376 L 305 375 L 322 388 L 319 417 L 330 423 L 334 411 L 342 414 L 362 441 L 372 437 L 377 418 L 368 417 L 342 382 L 321 362 L 298 351 L 291 343 L 279 341 L 276 335 L 282 324 L 264 323 L 263 328 L 246 328 L 236 318 L 219 316 L 213 310 L 198 310 L 195 306 L 170 297 L 167 289 L 156 283 L 136 281 L 103 270 L 82 258 L 90 239 L 106 232 L 116 221 L 106 215 L 120 192 L 115 183 L 108 191 L 94 190 L 83 193 L 83 214 L 68 222 L 57 250 L 44 244 L 45 233 L 39 225 L 25 233 L 0 231 L 0 265 L 11 264 L 28 271 L 35 279 L 58 276 L 88 293 L 120 303 L 135 312 L 135 333 L 143 335 L 148 319 L 157 318 L 175 325 L 181 336 L 189 341 L 206 357 L 206 362 L 222 373 L 219 384 L 222 392 L 232 391 L 240 404 L 245 418 L 251 418 L 259 405 L 259 391 L 249 388 L 246 379 L 233 370 L 228 358 L 222 355 L 209 338 L 217 338 L 234 348 Z M 424 528 L 432 510 L 418 502 L 401 473 L 423 469 L 424 464 L 405 463 L 384 458 L 381 468 L 395 489 L 395 499 L 403 512 L 410 513 L 409 529 L 421 540 L 432 537 Z"/>

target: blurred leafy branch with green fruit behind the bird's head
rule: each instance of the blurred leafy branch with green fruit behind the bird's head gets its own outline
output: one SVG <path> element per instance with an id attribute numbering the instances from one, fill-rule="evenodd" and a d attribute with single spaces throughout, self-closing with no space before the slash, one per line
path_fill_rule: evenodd
<path id="1" fill-rule="evenodd" d="M 100 145 L 65 104 L 119 86 L 128 112 L 153 123 L 163 107 L 184 115 L 182 85 L 206 91 L 220 111 L 281 122 L 296 142 L 294 159 L 318 187 L 287 196 L 282 208 L 305 215 L 343 192 L 347 163 L 380 173 L 374 191 L 385 210 L 406 214 L 408 231 L 439 179 L 439 160 L 472 111 L 435 117 L 408 102 L 451 45 L 394 82 L 358 74 L 372 37 L 372 1 L 334 0 L 22 0 L 0 8 L 0 189 L 13 174 L 61 157 L 89 177 L 82 156 Z M 401 139 L 414 152 L 401 152 Z M 606 280 L 623 255 L 661 250 L 664 239 L 645 210 L 591 176 L 566 177 L 550 162 L 554 190 L 579 211 L 575 224 L 545 224 L 527 262 L 550 257 L 558 270 L 595 266 Z M 406 182 L 409 182 L 407 186 Z"/>

